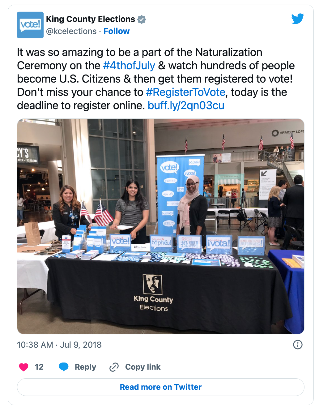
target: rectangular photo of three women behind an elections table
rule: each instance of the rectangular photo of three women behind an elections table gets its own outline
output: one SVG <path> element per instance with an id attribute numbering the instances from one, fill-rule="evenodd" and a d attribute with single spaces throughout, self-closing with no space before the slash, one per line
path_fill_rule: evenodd
<path id="1" fill-rule="evenodd" d="M 291 133 L 298 161 L 273 154 Z M 268 234 L 301 120 L 21 119 L 17 142 L 20 333 L 303 331 L 303 231 Z"/>

